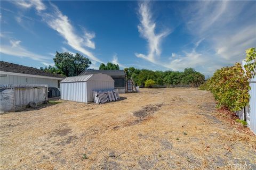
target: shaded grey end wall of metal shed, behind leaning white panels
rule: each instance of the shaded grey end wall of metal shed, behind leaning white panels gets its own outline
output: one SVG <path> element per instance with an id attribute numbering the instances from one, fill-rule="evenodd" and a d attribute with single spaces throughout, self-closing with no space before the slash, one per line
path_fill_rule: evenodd
<path id="1" fill-rule="evenodd" d="M 114 81 L 87 81 L 87 102 L 93 101 L 93 90 L 114 89 Z"/>

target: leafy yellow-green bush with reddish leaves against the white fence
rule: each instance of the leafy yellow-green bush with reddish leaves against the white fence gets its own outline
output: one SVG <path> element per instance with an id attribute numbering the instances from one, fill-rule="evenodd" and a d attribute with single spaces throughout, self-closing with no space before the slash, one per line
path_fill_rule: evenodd
<path id="1" fill-rule="evenodd" d="M 255 75 L 255 48 L 246 50 L 247 57 L 244 72 L 242 65 L 236 63 L 231 67 L 217 70 L 211 79 L 201 86 L 209 90 L 218 101 L 218 107 L 224 106 L 230 111 L 239 111 L 249 104 L 249 79 Z M 253 59 L 254 58 L 254 59 Z"/>

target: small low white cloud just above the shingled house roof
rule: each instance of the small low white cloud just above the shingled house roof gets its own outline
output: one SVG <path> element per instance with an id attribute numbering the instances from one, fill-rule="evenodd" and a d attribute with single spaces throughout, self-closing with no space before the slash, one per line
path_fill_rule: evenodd
<path id="1" fill-rule="evenodd" d="M 49 57 L 30 52 L 28 49 L 26 49 L 25 47 L 22 47 L 20 44 L 21 44 L 20 40 L 10 40 L 9 45 L 1 45 L 0 53 L 17 56 L 21 58 L 27 57 L 39 62 L 45 62 L 46 60 L 50 59 Z"/>

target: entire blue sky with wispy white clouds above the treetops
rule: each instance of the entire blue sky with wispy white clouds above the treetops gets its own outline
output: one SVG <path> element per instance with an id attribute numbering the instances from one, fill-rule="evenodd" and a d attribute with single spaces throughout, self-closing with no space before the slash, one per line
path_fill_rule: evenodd
<path id="1" fill-rule="evenodd" d="M 255 1 L 1 1 L 1 61 L 40 67 L 56 51 L 80 53 L 91 68 L 123 67 L 205 75 L 256 47 Z"/>

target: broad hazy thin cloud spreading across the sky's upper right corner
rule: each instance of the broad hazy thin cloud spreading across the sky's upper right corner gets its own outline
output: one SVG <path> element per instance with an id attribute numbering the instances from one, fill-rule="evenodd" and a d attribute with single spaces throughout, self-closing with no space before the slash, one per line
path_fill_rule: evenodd
<path id="1" fill-rule="evenodd" d="M 215 54 L 230 64 L 244 58 L 246 48 L 256 44 L 256 4 L 250 2 L 203 1 L 185 8 L 183 18 L 191 34 L 204 38 Z M 221 61 L 219 61 L 221 63 Z M 223 65 L 224 66 L 224 65 Z"/>

